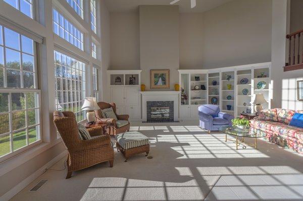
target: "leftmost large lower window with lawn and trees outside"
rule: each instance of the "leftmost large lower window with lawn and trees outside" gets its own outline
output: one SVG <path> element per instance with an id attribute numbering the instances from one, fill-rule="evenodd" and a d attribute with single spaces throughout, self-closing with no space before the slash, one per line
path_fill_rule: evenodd
<path id="1" fill-rule="evenodd" d="M 0 157 L 40 141 L 34 41 L 0 25 Z"/>

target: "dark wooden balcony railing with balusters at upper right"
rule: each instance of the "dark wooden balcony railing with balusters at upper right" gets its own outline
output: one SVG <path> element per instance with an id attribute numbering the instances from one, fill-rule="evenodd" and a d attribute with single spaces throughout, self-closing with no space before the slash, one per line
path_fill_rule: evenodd
<path id="1" fill-rule="evenodd" d="M 302 38 L 301 38 L 302 37 Z M 303 29 L 286 35 L 288 39 L 288 63 L 285 63 L 284 71 L 303 69 Z"/>

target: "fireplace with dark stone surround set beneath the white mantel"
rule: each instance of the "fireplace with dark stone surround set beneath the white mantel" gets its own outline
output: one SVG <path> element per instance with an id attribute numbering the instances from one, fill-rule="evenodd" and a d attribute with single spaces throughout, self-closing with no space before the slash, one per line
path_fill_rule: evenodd
<path id="1" fill-rule="evenodd" d="M 174 101 L 146 101 L 147 122 L 174 121 Z"/>

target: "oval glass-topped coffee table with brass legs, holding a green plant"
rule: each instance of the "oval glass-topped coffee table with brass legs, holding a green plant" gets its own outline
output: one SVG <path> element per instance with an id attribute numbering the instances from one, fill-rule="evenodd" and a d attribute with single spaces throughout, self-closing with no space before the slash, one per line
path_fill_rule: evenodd
<path id="1" fill-rule="evenodd" d="M 255 149 L 258 149 L 257 138 L 266 137 L 266 134 L 264 132 L 257 133 L 250 130 L 249 128 L 238 128 L 237 126 L 224 125 L 219 128 L 219 131 L 225 133 L 225 142 L 233 141 L 236 143 L 236 150 L 238 150 L 238 146 L 240 144 L 244 143 L 244 138 L 255 138 L 255 143 L 246 143 L 246 144 L 250 146 L 254 146 Z M 227 135 L 235 136 L 236 140 L 227 139 Z M 243 145 L 243 149 L 246 149 L 245 145 Z"/>

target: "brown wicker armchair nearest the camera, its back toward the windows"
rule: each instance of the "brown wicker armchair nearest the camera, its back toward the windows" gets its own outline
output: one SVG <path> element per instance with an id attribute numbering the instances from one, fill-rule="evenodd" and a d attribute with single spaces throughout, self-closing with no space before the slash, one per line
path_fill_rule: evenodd
<path id="1" fill-rule="evenodd" d="M 68 151 L 67 175 L 95 164 L 110 161 L 110 167 L 114 163 L 114 149 L 111 146 L 110 136 L 104 136 L 102 126 L 88 128 L 90 140 L 80 140 L 78 124 L 73 112 L 54 112 L 54 123 L 60 133 Z M 98 137 L 99 136 L 99 137 Z"/>

